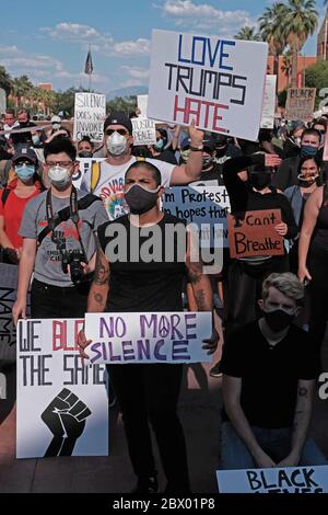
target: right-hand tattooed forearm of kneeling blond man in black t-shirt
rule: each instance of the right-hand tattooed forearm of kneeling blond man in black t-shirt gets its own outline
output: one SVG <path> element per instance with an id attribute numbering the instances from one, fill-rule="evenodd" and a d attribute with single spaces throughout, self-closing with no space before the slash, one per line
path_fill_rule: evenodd
<path id="1" fill-rule="evenodd" d="M 315 380 L 298 380 L 292 448 L 289 456 L 278 464 L 277 467 L 297 467 L 309 427 L 314 393 Z"/>

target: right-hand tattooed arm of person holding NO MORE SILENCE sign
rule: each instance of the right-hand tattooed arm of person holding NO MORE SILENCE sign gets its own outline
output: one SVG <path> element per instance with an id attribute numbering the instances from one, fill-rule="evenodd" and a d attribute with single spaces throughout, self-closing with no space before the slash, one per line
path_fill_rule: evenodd
<path id="1" fill-rule="evenodd" d="M 209 277 L 202 271 L 202 262 L 196 259 L 195 252 L 198 242 L 192 238 L 192 233 L 188 233 L 188 247 L 186 255 L 186 266 L 188 277 L 191 284 L 192 293 L 197 304 L 198 311 L 213 312 L 213 293 Z M 216 350 L 219 342 L 219 334 L 214 328 L 214 317 L 212 316 L 212 334 L 209 339 L 203 340 L 203 348 L 208 354 L 213 354 Z"/>

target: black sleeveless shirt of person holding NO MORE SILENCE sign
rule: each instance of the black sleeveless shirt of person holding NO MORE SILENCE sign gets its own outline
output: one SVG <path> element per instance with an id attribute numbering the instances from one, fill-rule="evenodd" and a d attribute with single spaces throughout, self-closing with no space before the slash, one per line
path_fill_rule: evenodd
<path id="1" fill-rule="evenodd" d="M 162 220 L 155 226 L 160 228 L 162 237 L 162 245 L 159 240 L 155 242 L 155 251 L 159 253 L 160 260 L 159 262 L 152 261 L 150 263 L 142 261 L 140 250 L 142 251 L 142 248 L 145 249 L 144 245 L 148 244 L 148 240 L 152 240 L 152 234 L 140 234 L 141 228 L 131 226 L 129 215 L 121 216 L 114 221 L 108 221 L 98 228 L 98 238 L 105 254 L 107 244 L 117 238 L 117 233 L 113 237 L 108 236 L 109 226 L 113 224 L 124 226 L 128 234 L 126 244 L 127 260 L 124 261 L 120 258 L 116 262 L 110 262 L 107 310 L 113 312 L 183 311 L 181 291 L 186 272 L 183 255 L 184 249 L 181 236 L 178 232 L 173 236 L 171 231 L 174 228 L 177 229 L 179 225 L 183 225 L 185 230 L 185 220 L 167 213 L 164 214 Z M 168 225 L 171 225 L 169 229 L 165 230 Z M 183 228 L 180 229 L 183 231 Z M 134 262 L 130 255 L 131 231 L 134 231 L 134 236 L 139 232 L 139 249 L 133 248 L 134 252 L 137 252 Z M 184 236 L 186 236 L 186 230 Z M 160 247 L 162 248 L 160 249 Z M 169 254 L 172 259 L 169 259 Z"/>

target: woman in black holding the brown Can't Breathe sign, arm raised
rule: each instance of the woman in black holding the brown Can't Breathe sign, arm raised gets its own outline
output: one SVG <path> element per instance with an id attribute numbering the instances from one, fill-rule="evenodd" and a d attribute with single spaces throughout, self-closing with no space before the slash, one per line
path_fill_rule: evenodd
<path id="1" fill-rule="evenodd" d="M 280 209 L 281 222 L 277 224 L 274 229 L 278 234 L 289 240 L 297 233 L 291 205 L 281 192 L 270 186 L 272 167 L 279 163 L 280 158 L 277 154 L 258 153 L 230 159 L 223 165 L 223 179 L 233 215 L 239 215 L 243 219 L 245 211 Z M 225 337 L 235 329 L 256 319 L 257 300 L 263 279 L 272 272 L 288 271 L 286 252 L 284 255 L 232 260 L 229 271 Z"/>

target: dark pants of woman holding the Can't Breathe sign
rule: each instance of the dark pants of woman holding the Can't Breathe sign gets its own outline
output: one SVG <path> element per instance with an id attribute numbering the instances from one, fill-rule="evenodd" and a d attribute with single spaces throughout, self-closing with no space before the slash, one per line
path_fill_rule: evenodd
<path id="1" fill-rule="evenodd" d="M 235 260 L 229 270 L 229 306 L 225 322 L 225 342 L 229 336 L 261 316 L 258 299 L 261 298 L 262 283 L 272 273 L 289 271 L 288 256 L 271 258 L 261 264 L 249 264 Z"/>

